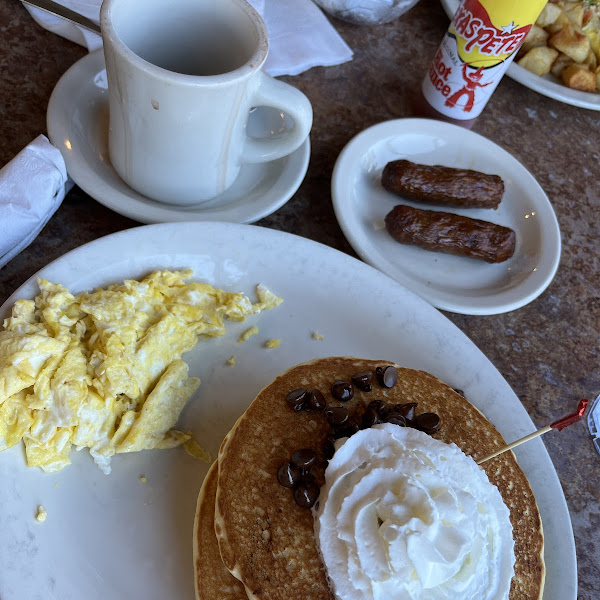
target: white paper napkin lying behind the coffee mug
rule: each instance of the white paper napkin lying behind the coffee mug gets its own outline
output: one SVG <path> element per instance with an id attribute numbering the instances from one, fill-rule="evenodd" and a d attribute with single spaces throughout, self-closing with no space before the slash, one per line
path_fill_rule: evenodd
<path id="1" fill-rule="evenodd" d="M 59 4 L 98 23 L 102 0 L 57 0 Z M 352 59 L 352 50 L 312 0 L 249 0 L 269 33 L 269 75 L 298 75 L 311 67 L 338 65 Z M 102 46 L 99 35 L 27 4 L 25 8 L 44 28 L 90 52 Z"/>

